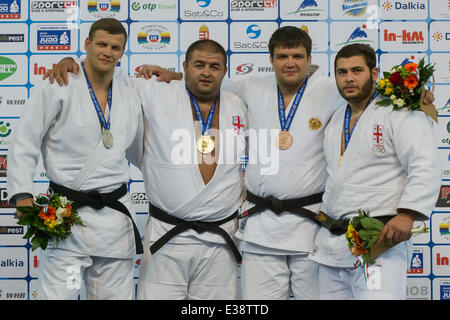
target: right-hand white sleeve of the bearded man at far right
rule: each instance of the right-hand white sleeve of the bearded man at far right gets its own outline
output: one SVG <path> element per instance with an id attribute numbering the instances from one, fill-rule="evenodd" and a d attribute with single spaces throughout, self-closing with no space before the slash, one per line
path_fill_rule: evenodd
<path id="1" fill-rule="evenodd" d="M 400 111 L 393 111 L 400 112 Z M 441 186 L 439 151 L 433 123 L 420 111 L 405 112 L 392 121 L 398 159 L 406 172 L 406 186 L 397 211 L 413 210 L 429 219 Z"/>

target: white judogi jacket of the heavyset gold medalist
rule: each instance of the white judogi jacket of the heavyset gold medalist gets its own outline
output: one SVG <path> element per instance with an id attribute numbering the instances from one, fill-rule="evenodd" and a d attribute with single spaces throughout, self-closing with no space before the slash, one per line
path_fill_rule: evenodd
<path id="1" fill-rule="evenodd" d="M 150 202 L 188 221 L 220 221 L 231 216 L 241 206 L 244 193 L 240 157 L 245 154 L 245 130 L 240 127 L 238 132 L 233 125 L 239 119 L 246 127 L 243 102 L 230 92 L 220 92 L 220 145 L 216 143 L 220 160 L 213 178 L 205 185 L 198 166 L 194 119 L 185 82 L 157 82 L 155 77 L 132 81 L 142 101 L 146 124 L 142 174 Z M 150 222 L 150 242 L 174 227 L 152 217 Z M 234 234 L 237 222 L 229 221 L 221 228 Z M 191 243 L 193 238 L 225 243 L 217 234 L 194 230 L 182 232 L 170 243 Z"/>

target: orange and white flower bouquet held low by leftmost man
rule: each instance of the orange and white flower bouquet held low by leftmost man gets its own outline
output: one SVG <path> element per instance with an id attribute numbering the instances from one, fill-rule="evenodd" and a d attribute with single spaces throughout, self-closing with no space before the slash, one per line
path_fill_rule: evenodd
<path id="1" fill-rule="evenodd" d="M 38 247 L 45 250 L 51 238 L 55 238 L 56 244 L 66 239 L 72 234 L 72 226 L 84 226 L 72 203 L 49 189 L 37 196 L 32 206 L 16 208 L 22 214 L 17 223 L 28 226 L 23 238 L 31 238 L 33 251 Z"/>

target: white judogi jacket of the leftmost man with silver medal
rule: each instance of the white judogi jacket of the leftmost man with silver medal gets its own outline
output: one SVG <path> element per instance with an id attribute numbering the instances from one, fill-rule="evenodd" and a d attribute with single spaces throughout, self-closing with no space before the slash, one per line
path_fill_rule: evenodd
<path id="1" fill-rule="evenodd" d="M 111 132 L 114 145 L 106 149 L 83 70 L 78 75 L 69 74 L 68 86 L 42 82 L 27 101 L 8 153 L 9 197 L 34 194 L 33 177 L 40 153 L 47 177 L 59 185 L 107 193 L 128 183 L 127 155 L 140 165 L 142 112 L 137 95 L 116 75 Z M 134 218 L 129 194 L 120 201 Z M 96 211 L 84 206 L 78 212 L 86 226 L 72 228 L 73 236 L 61 241 L 58 248 L 101 257 L 135 255 L 133 228 L 127 216 L 109 207 Z"/>

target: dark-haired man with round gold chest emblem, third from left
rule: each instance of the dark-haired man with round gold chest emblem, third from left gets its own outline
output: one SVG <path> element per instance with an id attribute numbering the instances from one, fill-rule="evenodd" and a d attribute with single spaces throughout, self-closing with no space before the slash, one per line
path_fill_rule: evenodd
<path id="1" fill-rule="evenodd" d="M 243 250 L 242 296 L 289 299 L 292 292 L 294 299 L 317 299 L 318 265 L 307 256 L 319 226 L 306 216 L 320 210 L 326 180 L 323 133 L 344 100 L 320 69 L 307 78 L 311 39 L 306 32 L 280 28 L 269 48 L 275 75 L 225 83 L 246 103 L 249 119 L 249 201 L 242 211 L 253 209 L 236 235 Z M 284 117 L 292 120 L 286 130 L 292 141 L 280 141 L 278 147 Z"/>

